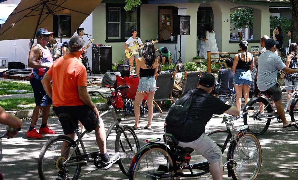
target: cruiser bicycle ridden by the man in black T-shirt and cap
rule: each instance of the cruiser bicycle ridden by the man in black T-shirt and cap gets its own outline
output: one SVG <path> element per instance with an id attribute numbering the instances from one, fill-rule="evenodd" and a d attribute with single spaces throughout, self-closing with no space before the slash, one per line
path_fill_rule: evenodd
<path id="1" fill-rule="evenodd" d="M 227 161 L 224 163 L 224 166 L 227 165 L 229 177 L 255 179 L 260 172 L 262 163 L 261 145 L 257 137 L 249 133 L 247 125 L 237 130 L 234 129 L 233 121 L 239 118 L 239 116 L 223 117 L 222 123 L 225 123 L 227 130 L 212 131 L 207 136 L 219 133 L 220 135 L 227 134 L 224 144 L 217 143 L 217 145 L 224 152 L 230 142 Z M 157 141 L 160 141 L 160 138 L 147 139 L 147 144 L 133 157 L 129 169 L 130 180 L 174 179 L 175 177 L 184 179 L 184 177 L 197 177 L 209 173 L 207 161 L 189 164 L 193 149 L 180 147 L 178 140 L 172 134 L 164 134 L 166 145 L 157 143 Z M 179 170 L 183 170 L 183 172 L 179 172 Z"/>

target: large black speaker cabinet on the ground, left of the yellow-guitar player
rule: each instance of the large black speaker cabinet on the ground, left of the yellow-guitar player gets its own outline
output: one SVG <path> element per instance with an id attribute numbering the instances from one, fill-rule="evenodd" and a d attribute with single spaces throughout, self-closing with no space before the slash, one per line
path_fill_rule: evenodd
<path id="1" fill-rule="evenodd" d="M 107 71 L 112 71 L 112 46 L 95 46 L 95 48 L 100 56 L 92 48 L 92 72 L 104 74 Z"/>

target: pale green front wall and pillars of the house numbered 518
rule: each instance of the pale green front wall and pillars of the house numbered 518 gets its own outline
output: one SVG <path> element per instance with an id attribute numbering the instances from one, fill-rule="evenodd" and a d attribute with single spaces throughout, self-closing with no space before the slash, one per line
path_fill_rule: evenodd
<path id="1" fill-rule="evenodd" d="M 200 3 L 171 3 L 171 4 L 141 4 L 140 34 L 143 43 L 146 39 L 156 39 L 158 33 L 158 6 L 178 7 L 178 14 L 190 15 L 190 35 L 182 35 L 181 39 L 181 58 L 183 62 L 191 61 L 197 54 L 196 50 L 196 21 L 197 10 Z M 230 9 L 240 7 L 240 5 L 227 1 L 210 2 L 214 13 L 214 31 L 219 52 L 237 52 L 238 43 L 229 43 L 230 40 L 230 21 L 224 22 L 223 19 L 230 19 Z M 269 35 L 269 6 L 246 5 L 254 8 L 254 39 L 260 40 L 262 35 Z M 93 11 L 93 37 L 95 44 L 107 44 L 112 46 L 112 62 L 118 62 L 126 58 L 124 54 L 124 42 L 106 43 L 106 4 L 101 3 Z M 172 59 L 179 57 L 180 35 L 177 44 L 155 44 L 157 48 L 166 46 L 172 53 Z M 259 46 L 260 43 L 249 43 L 251 46 Z M 260 47 L 261 48 L 261 47 Z M 158 55 L 158 53 L 156 53 Z"/>

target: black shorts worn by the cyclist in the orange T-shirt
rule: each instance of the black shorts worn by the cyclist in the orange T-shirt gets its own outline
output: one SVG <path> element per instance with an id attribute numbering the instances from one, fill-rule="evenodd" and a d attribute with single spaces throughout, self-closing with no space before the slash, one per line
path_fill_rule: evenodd
<path id="1" fill-rule="evenodd" d="M 53 107 L 53 111 L 56 116 L 59 113 L 67 113 L 72 117 L 72 121 L 75 121 L 76 127 L 74 127 L 73 122 L 71 120 L 60 120 L 63 132 L 65 135 L 72 134 L 78 128 L 78 120 L 84 125 L 88 132 L 93 131 L 98 125 L 100 120 L 96 118 L 94 111 L 86 106 L 58 106 Z"/>

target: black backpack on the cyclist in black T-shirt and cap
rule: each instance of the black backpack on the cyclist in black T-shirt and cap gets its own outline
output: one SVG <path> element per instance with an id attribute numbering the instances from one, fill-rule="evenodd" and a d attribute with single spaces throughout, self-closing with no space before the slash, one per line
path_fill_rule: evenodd
<path id="1" fill-rule="evenodd" d="M 192 104 L 192 97 L 196 94 L 196 89 L 188 90 L 169 109 L 165 122 L 170 125 L 180 126 L 187 118 L 188 109 Z"/>

